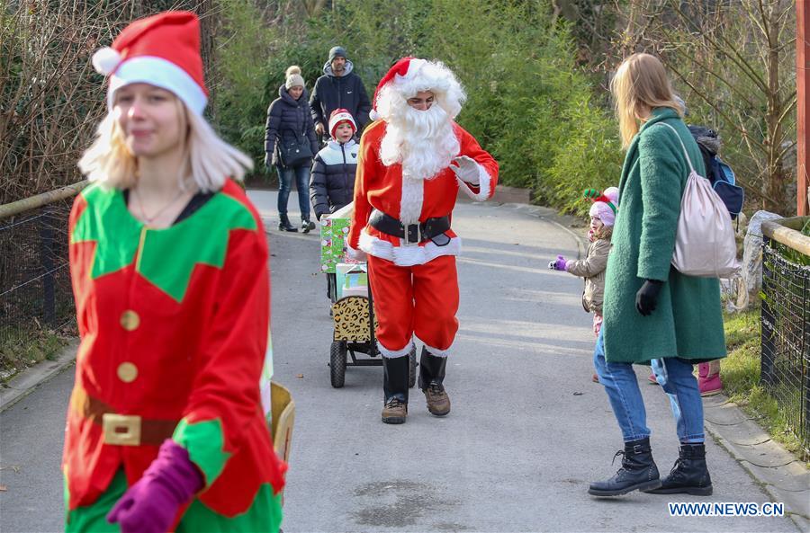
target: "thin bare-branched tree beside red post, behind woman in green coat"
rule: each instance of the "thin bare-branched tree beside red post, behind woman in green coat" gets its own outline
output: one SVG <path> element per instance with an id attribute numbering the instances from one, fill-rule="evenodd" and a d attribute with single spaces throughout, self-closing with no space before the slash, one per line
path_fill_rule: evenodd
<path id="1" fill-rule="evenodd" d="M 635 0 L 634 49 L 664 58 L 692 120 L 724 137 L 725 155 L 761 208 L 787 214 L 795 182 L 795 4 L 791 0 Z"/>

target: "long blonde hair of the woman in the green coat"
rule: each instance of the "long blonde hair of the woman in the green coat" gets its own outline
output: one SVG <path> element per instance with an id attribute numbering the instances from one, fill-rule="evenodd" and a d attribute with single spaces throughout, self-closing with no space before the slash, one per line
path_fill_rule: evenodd
<path id="1" fill-rule="evenodd" d="M 622 147 L 630 146 L 638 133 L 644 107 L 669 107 L 683 117 L 683 108 L 675 100 L 670 78 L 662 62 L 650 54 L 633 54 L 617 68 L 610 80 L 610 91 L 616 100 L 616 116 Z"/>

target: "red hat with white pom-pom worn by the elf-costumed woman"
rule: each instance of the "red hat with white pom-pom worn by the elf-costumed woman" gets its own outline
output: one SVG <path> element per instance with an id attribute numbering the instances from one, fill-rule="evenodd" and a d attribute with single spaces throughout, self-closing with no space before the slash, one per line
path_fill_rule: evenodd
<path id="1" fill-rule="evenodd" d="M 208 90 L 202 79 L 200 22 L 185 11 L 167 11 L 130 23 L 111 47 L 97 50 L 93 67 L 109 76 L 107 106 L 127 84 L 152 84 L 175 93 L 189 110 L 202 115 Z"/>

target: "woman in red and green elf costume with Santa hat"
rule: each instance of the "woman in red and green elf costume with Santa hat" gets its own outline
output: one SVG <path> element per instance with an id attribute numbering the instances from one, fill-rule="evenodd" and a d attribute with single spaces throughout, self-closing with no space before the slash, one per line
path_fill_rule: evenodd
<path id="1" fill-rule="evenodd" d="M 109 114 L 69 221 L 81 345 L 67 531 L 277 531 L 285 465 L 259 377 L 267 244 L 250 160 L 203 120 L 199 22 L 160 13 L 96 52 Z"/>

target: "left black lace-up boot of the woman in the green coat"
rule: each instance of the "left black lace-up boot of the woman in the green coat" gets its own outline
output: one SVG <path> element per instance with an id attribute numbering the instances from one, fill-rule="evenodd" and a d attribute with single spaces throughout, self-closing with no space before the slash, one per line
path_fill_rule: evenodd
<path id="1" fill-rule="evenodd" d="M 622 457 L 622 467 L 606 481 L 590 484 L 588 493 L 594 496 L 618 496 L 633 491 L 647 491 L 661 486 L 658 467 L 653 461 L 650 438 L 625 442 L 625 449 L 613 457 Z"/>

